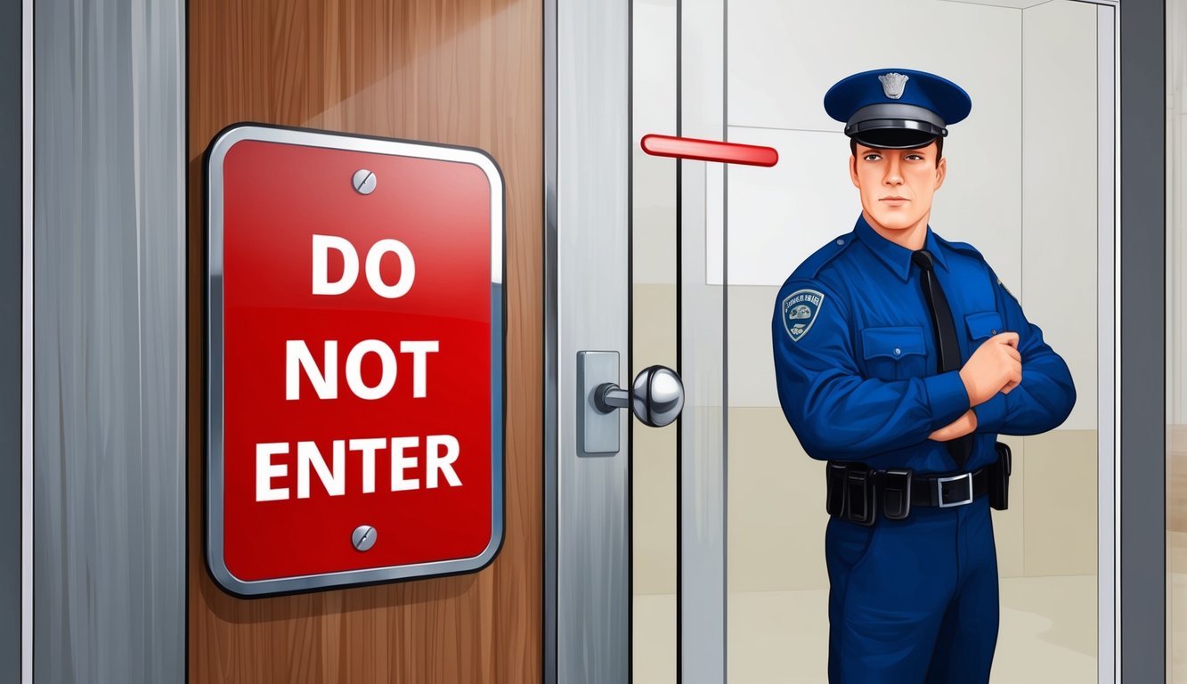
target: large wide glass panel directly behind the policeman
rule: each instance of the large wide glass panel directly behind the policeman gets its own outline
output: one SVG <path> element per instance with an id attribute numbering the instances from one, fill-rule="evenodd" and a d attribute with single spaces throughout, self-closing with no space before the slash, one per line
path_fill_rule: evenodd
<path id="1" fill-rule="evenodd" d="M 1078 391 L 1056 430 L 1001 437 L 1015 467 L 1010 508 L 994 512 L 994 676 L 1096 680 L 1096 6 L 764 0 L 729 4 L 728 26 L 729 139 L 780 152 L 773 169 L 729 169 L 726 272 L 709 277 L 728 284 L 729 682 L 826 679 L 824 464 L 780 410 L 770 316 L 788 273 L 861 211 L 824 93 L 849 74 L 897 64 L 970 93 L 971 116 L 946 139 L 948 173 L 929 223 L 982 252 Z"/>

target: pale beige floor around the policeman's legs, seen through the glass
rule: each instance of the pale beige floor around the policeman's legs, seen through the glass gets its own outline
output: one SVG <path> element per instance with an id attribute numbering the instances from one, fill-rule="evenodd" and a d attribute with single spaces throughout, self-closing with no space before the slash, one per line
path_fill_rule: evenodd
<path id="1" fill-rule="evenodd" d="M 1187 578 L 1182 587 L 1187 591 Z M 1003 578 L 1001 588 L 992 682 L 1097 680 L 1096 576 Z M 731 595 L 730 684 L 826 682 L 826 603 L 824 589 Z M 635 597 L 636 683 L 675 682 L 675 635 L 665 627 L 674 615 L 673 595 Z M 640 629 L 646 640 L 637 636 Z"/>

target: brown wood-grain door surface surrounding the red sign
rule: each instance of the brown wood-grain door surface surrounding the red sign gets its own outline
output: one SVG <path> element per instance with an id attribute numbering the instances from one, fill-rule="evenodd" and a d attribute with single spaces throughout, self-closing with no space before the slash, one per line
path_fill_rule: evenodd
<path id="1" fill-rule="evenodd" d="M 189 2 L 189 678 L 541 679 L 542 6 Z M 202 544 L 202 154 L 236 121 L 481 147 L 507 188 L 506 536 L 481 572 L 240 600 Z"/>

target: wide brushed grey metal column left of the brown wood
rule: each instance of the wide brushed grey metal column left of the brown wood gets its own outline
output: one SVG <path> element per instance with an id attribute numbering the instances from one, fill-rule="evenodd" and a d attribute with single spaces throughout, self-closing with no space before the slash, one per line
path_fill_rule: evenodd
<path id="1" fill-rule="evenodd" d="M 33 10 L 33 673 L 184 682 L 184 2 Z"/>

